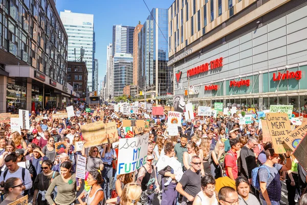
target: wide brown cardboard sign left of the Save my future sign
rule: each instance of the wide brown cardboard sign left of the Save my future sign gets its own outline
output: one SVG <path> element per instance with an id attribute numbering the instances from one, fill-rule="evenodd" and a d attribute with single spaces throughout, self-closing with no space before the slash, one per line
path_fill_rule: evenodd
<path id="1" fill-rule="evenodd" d="M 81 125 L 82 136 L 86 141 L 85 148 L 114 143 L 118 141 L 118 132 L 116 122 L 104 124 L 103 121 L 97 121 L 91 124 Z"/>

